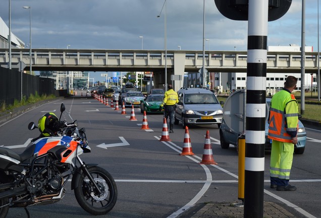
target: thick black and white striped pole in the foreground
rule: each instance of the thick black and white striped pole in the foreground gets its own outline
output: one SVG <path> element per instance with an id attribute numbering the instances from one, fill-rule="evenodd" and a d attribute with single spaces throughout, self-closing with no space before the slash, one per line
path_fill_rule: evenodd
<path id="1" fill-rule="evenodd" d="M 269 1 L 249 0 L 244 217 L 263 217 L 268 9 Z"/>

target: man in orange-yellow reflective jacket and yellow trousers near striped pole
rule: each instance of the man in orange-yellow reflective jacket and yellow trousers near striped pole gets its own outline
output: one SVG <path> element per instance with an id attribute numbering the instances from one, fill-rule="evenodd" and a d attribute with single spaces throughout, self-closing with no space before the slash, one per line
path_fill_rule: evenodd
<path id="1" fill-rule="evenodd" d="M 277 191 L 296 190 L 295 186 L 289 185 L 289 179 L 294 145 L 298 142 L 298 102 L 291 94 L 296 88 L 297 81 L 296 77 L 288 76 L 284 88 L 271 100 L 267 137 L 272 139 L 271 188 L 276 188 Z"/>

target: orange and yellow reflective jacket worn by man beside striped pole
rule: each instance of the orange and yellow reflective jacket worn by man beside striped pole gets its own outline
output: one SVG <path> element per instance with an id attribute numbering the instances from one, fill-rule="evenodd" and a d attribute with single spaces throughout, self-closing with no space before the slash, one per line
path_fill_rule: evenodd
<path id="1" fill-rule="evenodd" d="M 267 137 L 281 142 L 292 142 L 298 128 L 298 102 L 291 92 L 284 88 L 271 100 L 269 132 Z"/>

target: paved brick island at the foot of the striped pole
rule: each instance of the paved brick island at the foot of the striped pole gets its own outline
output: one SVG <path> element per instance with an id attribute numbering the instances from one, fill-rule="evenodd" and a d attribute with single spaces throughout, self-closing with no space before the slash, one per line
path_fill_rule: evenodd
<path id="1" fill-rule="evenodd" d="M 239 203 L 239 202 L 238 202 Z M 234 206 L 235 202 L 200 203 L 183 212 L 179 218 L 243 218 L 244 207 Z M 264 202 L 264 218 L 298 218 L 304 217 L 293 208 L 285 208 L 274 202 Z M 289 210 L 291 212 L 289 212 Z"/>

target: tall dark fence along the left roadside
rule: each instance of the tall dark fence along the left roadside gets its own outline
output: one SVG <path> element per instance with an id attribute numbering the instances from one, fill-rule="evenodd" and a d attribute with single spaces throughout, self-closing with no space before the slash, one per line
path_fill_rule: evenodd
<path id="1" fill-rule="evenodd" d="M 0 67 L 0 105 L 13 105 L 15 100 L 28 100 L 36 94 L 57 96 L 55 81 Z"/>

